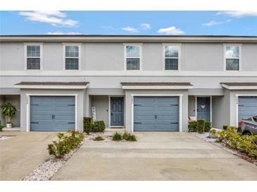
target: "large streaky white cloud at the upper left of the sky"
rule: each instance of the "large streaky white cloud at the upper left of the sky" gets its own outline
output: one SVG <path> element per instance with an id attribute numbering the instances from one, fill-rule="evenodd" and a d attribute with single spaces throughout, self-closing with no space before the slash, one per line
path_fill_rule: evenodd
<path id="1" fill-rule="evenodd" d="M 77 20 L 66 19 L 67 14 L 61 11 L 20 11 L 19 15 L 25 16 L 25 20 L 45 22 L 52 26 L 77 27 Z"/>

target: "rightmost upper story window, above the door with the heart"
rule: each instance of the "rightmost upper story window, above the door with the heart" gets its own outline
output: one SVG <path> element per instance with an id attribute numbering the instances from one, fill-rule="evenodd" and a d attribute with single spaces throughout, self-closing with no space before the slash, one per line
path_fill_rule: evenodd
<path id="1" fill-rule="evenodd" d="M 241 68 L 241 47 L 225 45 L 225 70 L 240 71 Z"/>

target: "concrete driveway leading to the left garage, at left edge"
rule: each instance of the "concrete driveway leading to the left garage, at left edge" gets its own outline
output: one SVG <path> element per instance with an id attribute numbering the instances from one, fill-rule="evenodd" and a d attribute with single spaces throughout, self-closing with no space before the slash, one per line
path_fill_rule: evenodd
<path id="1" fill-rule="evenodd" d="M 0 141 L 0 180 L 21 180 L 49 157 L 47 144 L 56 132 L 0 132 L 14 135 Z"/>

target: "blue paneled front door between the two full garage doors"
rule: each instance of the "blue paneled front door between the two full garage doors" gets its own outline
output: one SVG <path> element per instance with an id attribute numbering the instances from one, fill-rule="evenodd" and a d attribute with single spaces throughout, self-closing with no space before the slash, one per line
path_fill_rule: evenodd
<path id="1" fill-rule="evenodd" d="M 124 97 L 111 97 L 111 126 L 124 125 Z"/>

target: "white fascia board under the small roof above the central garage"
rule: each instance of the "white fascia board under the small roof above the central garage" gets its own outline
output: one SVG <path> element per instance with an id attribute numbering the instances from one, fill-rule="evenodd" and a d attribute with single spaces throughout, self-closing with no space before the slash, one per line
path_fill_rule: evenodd
<path id="1" fill-rule="evenodd" d="M 187 90 L 187 89 L 191 89 L 193 88 L 193 86 L 176 86 L 176 85 L 153 85 L 153 86 L 149 86 L 149 85 L 123 85 L 122 86 L 123 89 L 130 89 L 130 90 Z"/>

